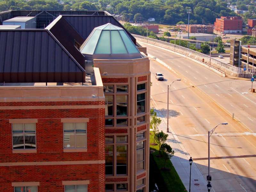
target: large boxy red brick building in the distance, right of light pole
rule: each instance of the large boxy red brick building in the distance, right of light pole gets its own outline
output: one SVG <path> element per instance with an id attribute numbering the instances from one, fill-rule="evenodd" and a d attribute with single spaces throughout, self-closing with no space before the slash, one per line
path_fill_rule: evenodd
<path id="1" fill-rule="evenodd" d="M 214 22 L 214 30 L 222 33 L 242 33 L 243 19 L 242 17 L 223 17 L 216 18 Z"/>

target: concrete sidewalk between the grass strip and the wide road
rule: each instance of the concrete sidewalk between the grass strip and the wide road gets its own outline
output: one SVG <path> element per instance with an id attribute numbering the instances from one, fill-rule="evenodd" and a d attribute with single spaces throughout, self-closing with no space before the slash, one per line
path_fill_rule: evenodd
<path id="1" fill-rule="evenodd" d="M 153 104 L 153 103 L 152 103 Z M 163 114 L 155 107 L 155 111 L 157 113 L 157 116 L 161 118 L 162 123 L 159 125 L 159 131 L 163 131 L 166 133 L 167 129 L 167 119 L 164 118 Z M 187 191 L 189 191 L 189 171 L 190 171 L 190 165 L 188 162 L 188 159 L 190 158 L 189 153 L 186 151 L 186 149 L 183 147 L 182 143 L 180 142 L 179 138 L 172 134 L 174 133 L 170 124 L 169 124 L 169 133 L 167 138 L 167 144 L 169 144 L 172 149 L 175 151 L 174 156 L 171 158 L 172 164 L 180 176 L 180 179 L 182 183 L 184 184 Z M 204 179 L 202 173 L 198 169 L 197 165 L 195 163 L 191 166 L 191 192 L 207 192 L 207 181 Z"/>

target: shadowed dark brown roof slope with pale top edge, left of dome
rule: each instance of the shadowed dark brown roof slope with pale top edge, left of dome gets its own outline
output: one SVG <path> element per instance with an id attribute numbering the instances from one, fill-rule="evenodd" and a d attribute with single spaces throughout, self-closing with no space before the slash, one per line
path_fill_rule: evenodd
<path id="1" fill-rule="evenodd" d="M 61 15 L 58 16 L 50 25 L 48 29 L 52 35 L 67 49 L 67 51 L 75 58 L 75 60 L 84 68 L 84 56 L 75 47 L 75 43 L 80 46 L 84 43 L 84 38 L 73 28 L 69 22 Z"/>

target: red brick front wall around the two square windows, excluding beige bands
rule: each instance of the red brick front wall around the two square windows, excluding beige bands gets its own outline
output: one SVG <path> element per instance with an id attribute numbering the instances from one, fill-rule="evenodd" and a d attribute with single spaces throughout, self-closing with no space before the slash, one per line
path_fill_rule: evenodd
<path id="1" fill-rule="evenodd" d="M 1 106 L 103 105 L 104 101 L 6 102 L 0 103 L 0 163 L 105 160 L 105 109 L 19 109 Z M 12 153 L 12 124 L 9 119 L 35 118 L 36 153 Z M 89 118 L 87 152 L 63 152 L 61 118 Z M 53 163 L 54 164 L 54 163 Z M 0 166 L 0 191 L 13 191 L 12 182 L 39 181 L 38 192 L 63 192 L 63 180 L 90 180 L 88 192 L 105 191 L 105 164 Z"/>

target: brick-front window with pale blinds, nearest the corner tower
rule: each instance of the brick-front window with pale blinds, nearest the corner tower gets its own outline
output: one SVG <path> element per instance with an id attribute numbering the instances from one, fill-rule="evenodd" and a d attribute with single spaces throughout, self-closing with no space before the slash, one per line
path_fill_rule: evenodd
<path id="1" fill-rule="evenodd" d="M 64 148 L 87 148 L 87 124 L 63 123 Z"/>

